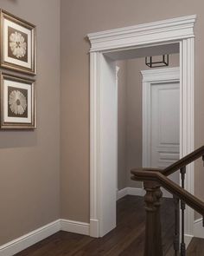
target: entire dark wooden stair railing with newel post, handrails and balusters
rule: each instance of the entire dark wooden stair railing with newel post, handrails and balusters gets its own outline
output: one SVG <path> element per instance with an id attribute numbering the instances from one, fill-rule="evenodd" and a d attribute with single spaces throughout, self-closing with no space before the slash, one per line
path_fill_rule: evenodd
<path id="1" fill-rule="evenodd" d="M 176 161 L 165 169 L 156 168 L 136 168 L 131 170 L 133 181 L 143 181 L 146 191 L 144 201 L 146 203 L 146 227 L 145 227 L 145 247 L 144 256 L 163 256 L 163 243 L 161 235 L 160 205 L 162 191 L 164 187 L 173 194 L 175 200 L 175 256 L 186 255 L 184 242 L 184 210 L 185 204 L 192 207 L 196 212 L 204 216 L 204 202 L 196 198 L 193 194 L 184 189 L 184 179 L 186 166 L 202 156 L 204 161 L 204 146 L 194 150 L 193 153 L 186 155 L 181 160 Z M 167 176 L 180 170 L 182 176 L 182 187 L 171 181 Z M 180 201 L 181 200 L 181 201 Z M 179 254 L 179 205 L 182 210 L 182 242 L 181 254 Z"/>

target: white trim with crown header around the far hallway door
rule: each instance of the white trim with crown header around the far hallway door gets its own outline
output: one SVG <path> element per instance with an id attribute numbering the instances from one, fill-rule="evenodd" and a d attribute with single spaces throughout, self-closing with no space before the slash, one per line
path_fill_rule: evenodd
<path id="1" fill-rule="evenodd" d="M 143 167 L 150 167 L 150 89 L 158 82 L 179 82 L 180 69 L 148 69 L 143 75 Z"/>

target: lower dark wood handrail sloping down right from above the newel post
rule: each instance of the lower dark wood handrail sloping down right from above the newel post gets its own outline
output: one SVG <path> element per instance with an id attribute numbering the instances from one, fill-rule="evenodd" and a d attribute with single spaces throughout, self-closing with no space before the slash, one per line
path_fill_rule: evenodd
<path id="1" fill-rule="evenodd" d="M 189 207 L 192 207 L 196 212 L 204 215 L 204 203 L 196 198 L 193 194 L 188 193 L 185 189 L 177 185 L 174 181 L 169 180 L 162 173 L 156 171 L 145 171 L 142 169 L 131 170 L 131 180 L 133 181 L 157 181 L 162 187 L 166 188 L 169 193 L 177 195 L 181 200 L 184 200 Z"/>

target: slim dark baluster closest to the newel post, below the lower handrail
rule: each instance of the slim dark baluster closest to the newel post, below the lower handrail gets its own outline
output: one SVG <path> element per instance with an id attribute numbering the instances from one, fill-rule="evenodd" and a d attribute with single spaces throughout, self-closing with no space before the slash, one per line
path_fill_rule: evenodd
<path id="1" fill-rule="evenodd" d="M 179 253 L 179 240 L 180 240 L 180 211 L 179 211 L 179 198 L 174 194 L 175 202 L 175 239 L 174 239 L 174 250 L 175 256 Z"/>

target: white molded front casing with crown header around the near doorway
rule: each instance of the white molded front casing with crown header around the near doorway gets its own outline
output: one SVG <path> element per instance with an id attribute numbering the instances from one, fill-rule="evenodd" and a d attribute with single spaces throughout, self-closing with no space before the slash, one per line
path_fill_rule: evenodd
<path id="1" fill-rule="evenodd" d="M 166 43 L 180 44 L 180 156 L 194 151 L 194 23 L 196 15 L 88 34 L 90 49 L 90 235 L 100 233 L 103 220 L 103 172 L 100 147 L 100 87 L 103 56 L 107 52 L 136 49 Z M 103 130 L 105 132 L 105 130 Z M 117 148 L 115 148 L 117 150 Z M 186 189 L 194 194 L 194 164 L 188 165 Z M 115 203 L 115 202 L 114 202 Z M 186 243 L 193 237 L 194 211 L 186 210 Z"/>

